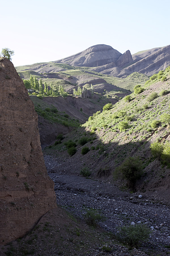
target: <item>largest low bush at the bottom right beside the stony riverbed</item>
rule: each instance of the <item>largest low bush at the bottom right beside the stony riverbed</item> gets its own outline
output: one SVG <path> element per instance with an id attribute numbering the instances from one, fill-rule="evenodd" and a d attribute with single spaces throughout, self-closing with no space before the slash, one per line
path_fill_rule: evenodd
<path id="1" fill-rule="evenodd" d="M 129 249 L 138 248 L 143 242 L 149 239 L 150 229 L 143 224 L 136 226 L 123 226 L 117 234 L 117 239 L 125 243 Z"/>

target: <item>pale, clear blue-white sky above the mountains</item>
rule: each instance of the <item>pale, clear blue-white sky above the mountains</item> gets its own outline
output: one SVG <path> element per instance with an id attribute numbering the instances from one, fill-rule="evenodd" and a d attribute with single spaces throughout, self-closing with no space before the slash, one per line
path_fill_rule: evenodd
<path id="1" fill-rule="evenodd" d="M 121 53 L 167 46 L 170 1 L 6 0 L 1 3 L 0 51 L 14 66 L 56 61 L 96 44 Z"/>

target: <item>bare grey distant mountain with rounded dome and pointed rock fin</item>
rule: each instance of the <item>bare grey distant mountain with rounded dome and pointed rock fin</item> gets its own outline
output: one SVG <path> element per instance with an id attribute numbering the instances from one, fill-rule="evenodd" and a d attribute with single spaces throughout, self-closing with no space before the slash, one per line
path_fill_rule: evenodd
<path id="1" fill-rule="evenodd" d="M 121 54 L 111 46 L 99 44 L 55 62 L 93 67 L 93 71 L 114 77 L 124 78 L 133 72 L 150 76 L 170 65 L 170 45 L 141 51 L 132 56 L 129 50 Z"/>

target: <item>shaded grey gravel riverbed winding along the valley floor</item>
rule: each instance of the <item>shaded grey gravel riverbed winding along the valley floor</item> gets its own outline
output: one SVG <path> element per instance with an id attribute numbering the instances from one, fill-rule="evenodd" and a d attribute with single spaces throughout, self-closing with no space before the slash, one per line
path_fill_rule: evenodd
<path id="1" fill-rule="evenodd" d="M 142 250 L 151 253 L 170 253 L 170 208 L 156 203 L 154 198 L 120 191 L 111 182 L 86 179 L 82 176 L 58 172 L 59 163 L 54 157 L 44 156 L 49 176 L 54 180 L 57 204 L 80 218 L 87 209 L 95 208 L 105 216 L 99 225 L 114 234 L 118 228 L 131 222 L 145 223 L 153 227 L 150 240 Z M 152 228 L 151 228 L 152 229 Z"/>

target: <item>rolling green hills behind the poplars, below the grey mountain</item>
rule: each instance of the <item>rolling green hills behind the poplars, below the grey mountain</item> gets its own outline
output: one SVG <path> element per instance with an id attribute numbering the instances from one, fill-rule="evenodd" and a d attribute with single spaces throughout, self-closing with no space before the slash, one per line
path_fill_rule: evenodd
<path id="1" fill-rule="evenodd" d="M 149 78 L 141 73 L 132 73 L 127 78 L 116 78 L 104 75 L 95 71 L 91 71 L 90 67 L 73 67 L 64 63 L 35 63 L 33 65 L 16 67 L 17 72 L 22 79 L 29 79 L 30 75 L 37 79 L 42 78 L 48 86 L 52 84 L 57 89 L 60 84 L 64 89 L 72 93 L 73 86 L 81 86 L 84 84 L 95 85 L 95 92 L 102 94 L 107 98 L 122 98 L 133 92 L 136 83 L 144 84 Z M 102 82 L 94 82 L 96 78 L 104 79 Z M 106 87 L 106 88 L 105 88 Z M 122 95 L 121 95 L 122 94 Z"/>

